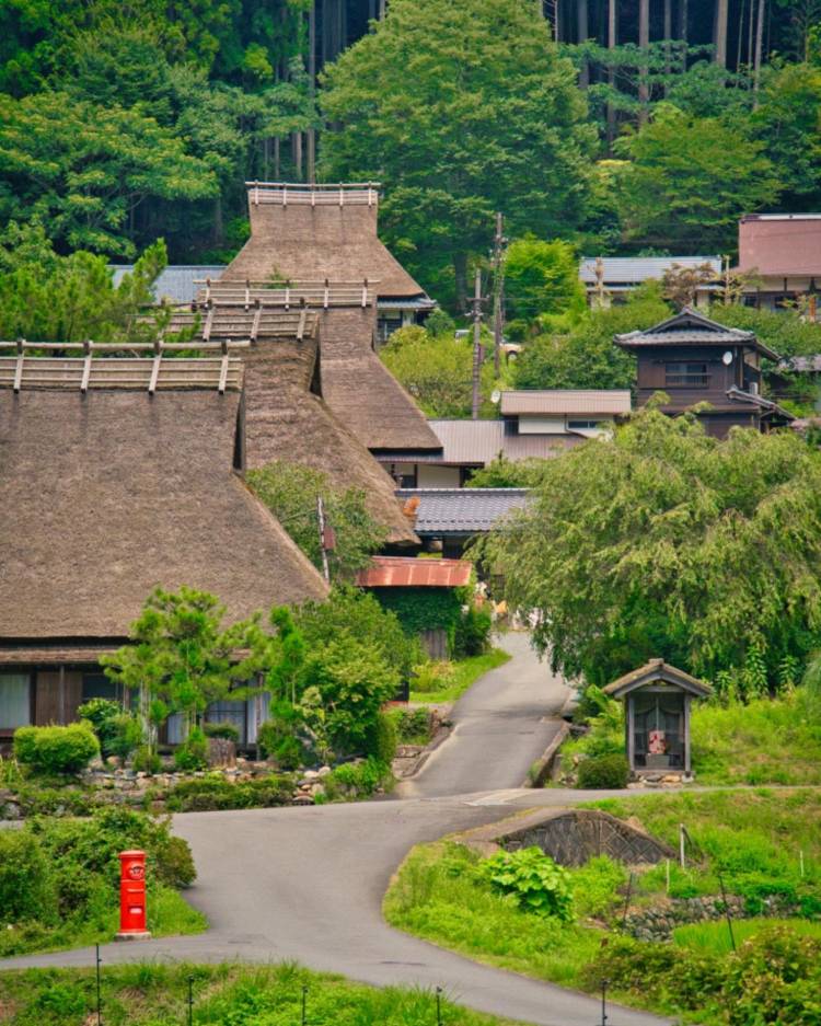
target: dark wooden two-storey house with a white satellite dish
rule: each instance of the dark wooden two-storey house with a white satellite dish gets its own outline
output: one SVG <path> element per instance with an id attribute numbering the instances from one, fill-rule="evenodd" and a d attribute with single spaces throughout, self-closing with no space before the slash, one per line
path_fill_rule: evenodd
<path id="1" fill-rule="evenodd" d="M 761 361 L 778 354 L 752 332 L 726 327 L 685 307 L 646 331 L 616 335 L 615 344 L 638 359 L 638 403 L 657 392 L 669 396 L 661 408 L 673 416 L 698 403 L 706 430 L 724 438 L 735 426 L 766 431 L 793 420 L 761 394 Z"/>

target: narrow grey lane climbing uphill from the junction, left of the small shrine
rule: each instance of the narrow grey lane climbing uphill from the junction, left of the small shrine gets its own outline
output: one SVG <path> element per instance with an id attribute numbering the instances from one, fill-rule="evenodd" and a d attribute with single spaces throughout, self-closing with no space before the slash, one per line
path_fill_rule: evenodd
<path id="1" fill-rule="evenodd" d="M 421 772 L 397 788 L 400 797 L 438 797 L 519 787 L 528 770 L 556 736 L 548 718 L 569 691 L 563 678 L 540 662 L 524 633 L 502 636 L 512 659 L 478 680 L 453 706 L 453 736 Z"/>

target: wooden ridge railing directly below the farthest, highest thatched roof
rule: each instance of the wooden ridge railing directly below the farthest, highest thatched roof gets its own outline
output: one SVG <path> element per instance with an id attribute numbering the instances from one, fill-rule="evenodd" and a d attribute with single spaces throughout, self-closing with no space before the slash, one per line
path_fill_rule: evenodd
<path id="1" fill-rule="evenodd" d="M 226 280 L 220 278 L 211 281 L 210 278 L 195 278 L 195 285 L 204 285 L 199 290 L 195 303 L 209 306 L 250 307 L 262 303 L 266 307 L 284 307 L 289 310 L 293 307 L 370 307 L 377 300 L 373 286 L 379 279 L 360 278 L 356 281 L 288 281 L 284 285 L 271 285 L 266 281 L 252 281 L 251 279 Z"/>

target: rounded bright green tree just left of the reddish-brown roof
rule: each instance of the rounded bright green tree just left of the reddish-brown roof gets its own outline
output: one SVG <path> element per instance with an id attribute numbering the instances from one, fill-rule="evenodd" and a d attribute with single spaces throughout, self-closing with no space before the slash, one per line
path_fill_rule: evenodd
<path id="1" fill-rule="evenodd" d="M 631 158 L 616 178 L 627 238 L 685 253 L 731 249 L 739 217 L 772 203 L 780 188 L 763 151 L 763 143 L 720 118 L 659 105 L 621 141 Z"/>

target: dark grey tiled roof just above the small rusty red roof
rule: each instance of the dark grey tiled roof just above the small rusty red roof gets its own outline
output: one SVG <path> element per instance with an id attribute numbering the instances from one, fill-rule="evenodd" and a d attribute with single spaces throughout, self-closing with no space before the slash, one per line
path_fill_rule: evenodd
<path id="1" fill-rule="evenodd" d="M 528 503 L 528 488 L 400 488 L 398 498 L 406 503 L 419 499 L 416 510 L 416 533 L 477 534 L 489 531 L 499 518 Z"/>

